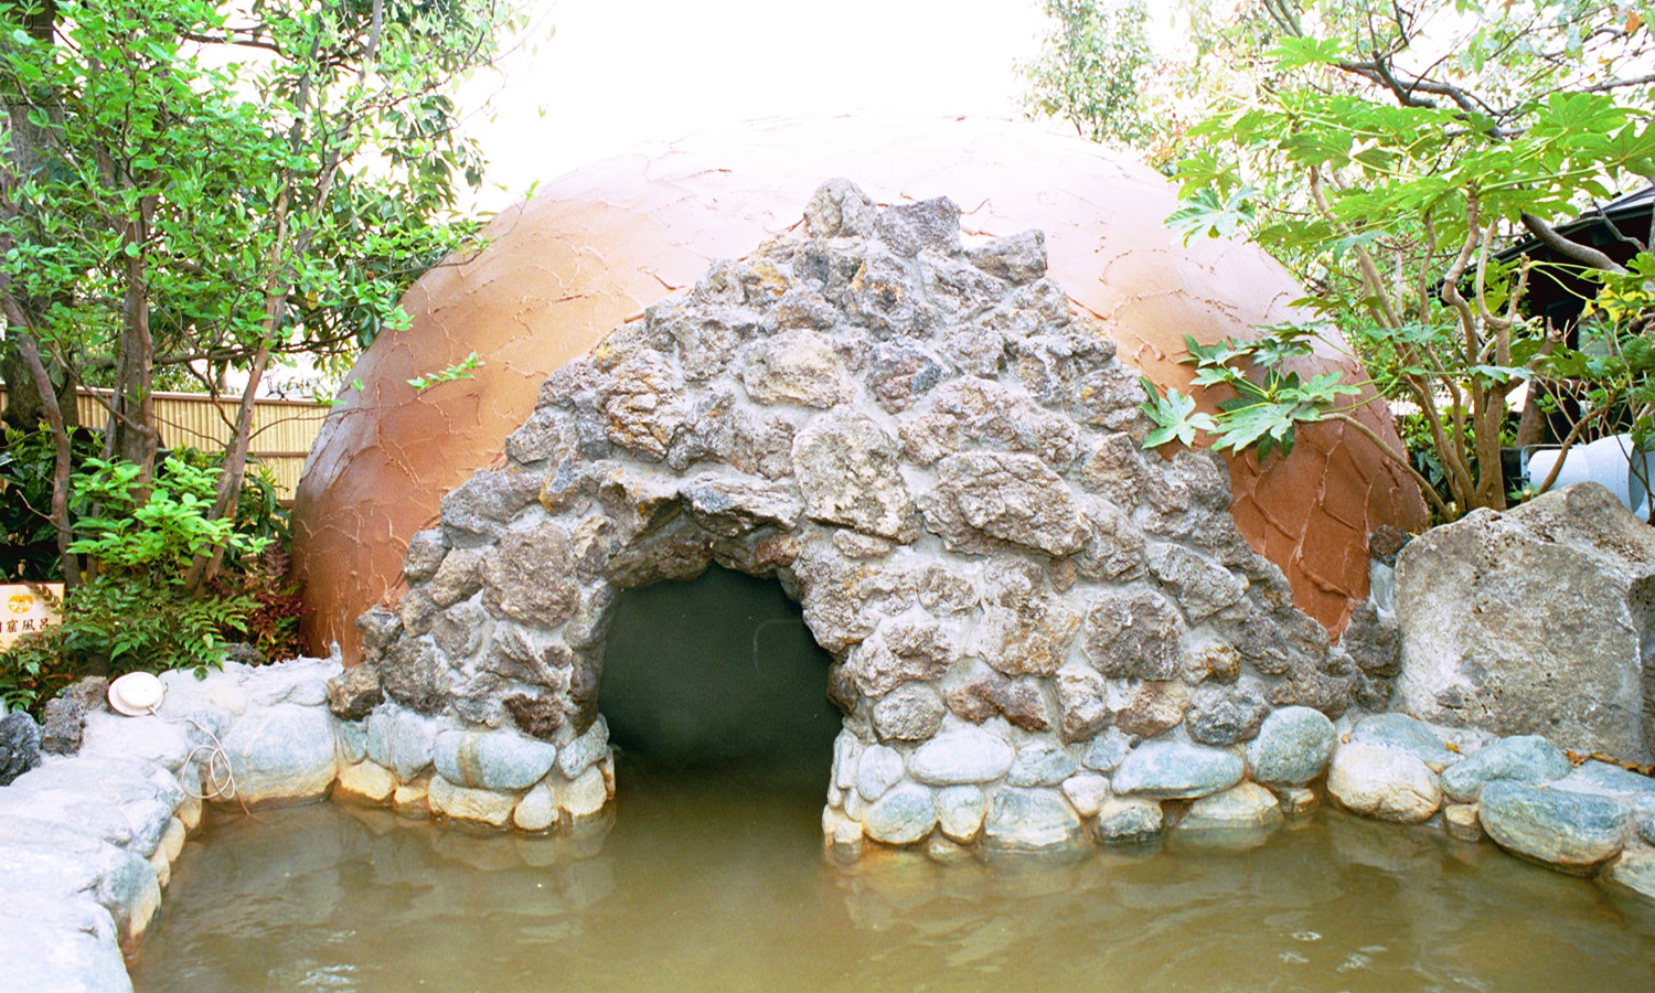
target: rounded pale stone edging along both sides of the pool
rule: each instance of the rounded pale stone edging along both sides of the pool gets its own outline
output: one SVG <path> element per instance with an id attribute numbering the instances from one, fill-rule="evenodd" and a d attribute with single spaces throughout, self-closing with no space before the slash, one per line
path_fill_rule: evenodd
<path id="1" fill-rule="evenodd" d="M 328 707 L 341 672 L 319 659 L 227 664 L 205 679 L 169 672 L 156 717 L 89 712 L 76 755 L 46 756 L 0 788 L 0 985 L 129 991 L 122 948 L 161 909 L 204 801 L 258 808 L 331 794 L 533 832 L 609 808 L 602 718 L 581 735 L 571 727 L 561 743 L 394 703 L 343 720 Z M 1067 746 L 1015 736 L 1010 725 L 963 725 L 900 755 L 841 735 L 826 844 L 841 854 L 864 839 L 923 846 L 942 859 L 975 842 L 1039 851 L 1172 834 L 1251 844 L 1326 798 L 1461 841 L 1490 837 L 1655 899 L 1655 780 L 1602 761 L 1576 766 L 1539 736 L 1398 713 L 1332 722 L 1306 707 L 1278 708 L 1231 746 L 1173 735 L 1134 743 L 1119 730 Z"/>

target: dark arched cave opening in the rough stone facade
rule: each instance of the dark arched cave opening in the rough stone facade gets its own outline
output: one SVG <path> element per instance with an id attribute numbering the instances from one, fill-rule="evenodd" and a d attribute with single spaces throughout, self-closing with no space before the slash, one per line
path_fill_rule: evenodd
<path id="1" fill-rule="evenodd" d="M 842 727 L 831 657 L 775 579 L 710 566 L 622 592 L 597 708 L 624 791 L 639 778 L 740 778 L 821 796 Z"/>

